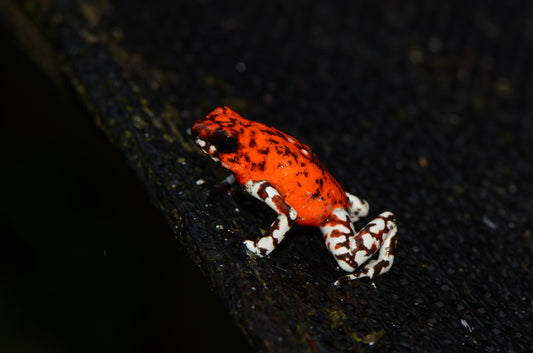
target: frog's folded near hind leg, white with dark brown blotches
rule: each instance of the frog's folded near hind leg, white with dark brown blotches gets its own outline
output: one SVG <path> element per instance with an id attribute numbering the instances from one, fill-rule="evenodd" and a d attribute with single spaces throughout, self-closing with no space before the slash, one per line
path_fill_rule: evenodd
<path id="1" fill-rule="evenodd" d="M 379 250 L 375 260 L 369 261 L 357 274 L 346 276 L 348 279 L 376 278 L 389 271 L 394 262 L 397 225 L 391 212 L 383 212 L 355 234 L 349 213 L 337 208 L 320 230 L 328 250 L 347 272 L 354 272 Z"/>

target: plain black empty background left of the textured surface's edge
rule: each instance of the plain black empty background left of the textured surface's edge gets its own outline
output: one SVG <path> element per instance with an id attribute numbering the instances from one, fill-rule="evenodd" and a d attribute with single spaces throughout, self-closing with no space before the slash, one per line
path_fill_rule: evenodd
<path id="1" fill-rule="evenodd" d="M 0 351 L 250 351 L 72 88 L 0 43 Z"/>

